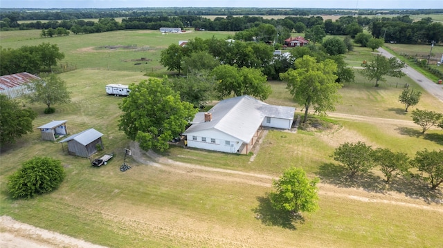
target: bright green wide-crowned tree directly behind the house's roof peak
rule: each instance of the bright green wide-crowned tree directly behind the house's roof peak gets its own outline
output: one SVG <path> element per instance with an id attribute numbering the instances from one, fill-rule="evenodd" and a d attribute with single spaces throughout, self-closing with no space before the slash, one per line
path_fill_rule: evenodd
<path id="1" fill-rule="evenodd" d="M 260 69 L 217 66 L 212 74 L 217 80 L 215 90 L 219 97 L 251 95 L 265 100 L 272 92 L 271 85 Z"/>

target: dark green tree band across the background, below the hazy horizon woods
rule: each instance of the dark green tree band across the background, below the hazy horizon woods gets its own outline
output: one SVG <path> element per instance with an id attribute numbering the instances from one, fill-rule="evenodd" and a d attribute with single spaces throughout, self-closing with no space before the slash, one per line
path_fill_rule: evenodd
<path id="1" fill-rule="evenodd" d="M 357 33 L 363 32 L 363 28 L 367 27 L 372 32 L 373 37 L 383 38 L 385 41 L 402 44 L 429 44 L 431 41 L 439 44 L 443 41 L 442 23 L 433 21 L 431 17 L 413 21 L 408 15 L 374 16 L 371 18 L 346 15 L 339 17 L 336 21 L 323 20 L 321 16 L 289 16 L 282 17 L 282 19 L 265 19 L 260 16 L 234 17 L 228 15 L 227 17 L 216 17 L 213 20 L 199 15 L 145 16 L 127 17 L 122 19 L 121 23 L 114 18 L 100 18 L 97 22 L 71 19 L 17 23 L 17 21 L 5 17 L 0 21 L 0 28 L 2 31 L 42 29 L 42 37 L 53 37 L 53 35 L 69 35 L 69 31 L 77 35 L 123 29 L 159 30 L 161 27 L 239 32 L 256 28 L 263 23 L 271 24 L 278 30 L 287 30 L 285 31 L 287 33 L 309 32 L 309 30 L 316 27 L 324 30 L 327 35 L 350 35 L 354 38 Z"/>

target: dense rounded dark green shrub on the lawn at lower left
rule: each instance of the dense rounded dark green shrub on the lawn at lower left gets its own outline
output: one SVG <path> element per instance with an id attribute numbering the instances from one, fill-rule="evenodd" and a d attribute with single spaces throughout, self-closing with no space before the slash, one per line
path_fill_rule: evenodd
<path id="1" fill-rule="evenodd" d="M 60 160 L 35 157 L 24 162 L 18 171 L 9 176 L 8 191 L 12 198 L 32 198 L 59 187 L 65 175 Z"/>

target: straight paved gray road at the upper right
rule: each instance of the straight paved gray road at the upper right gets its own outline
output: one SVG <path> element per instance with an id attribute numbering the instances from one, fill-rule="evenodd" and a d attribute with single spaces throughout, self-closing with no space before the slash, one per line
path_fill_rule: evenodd
<path id="1" fill-rule="evenodd" d="M 394 57 L 394 55 L 390 54 L 387 50 L 383 48 L 378 48 L 381 55 L 387 58 Z M 443 102 L 443 85 L 442 84 L 435 84 L 435 82 L 432 82 L 428 78 L 424 77 L 422 73 L 417 72 L 417 70 L 414 70 L 413 68 L 410 68 L 410 66 L 406 65 L 405 68 L 403 68 L 403 72 L 408 75 L 411 79 L 413 79 L 419 86 L 422 86 L 424 90 L 428 91 L 431 95 L 437 97 L 441 102 Z"/>

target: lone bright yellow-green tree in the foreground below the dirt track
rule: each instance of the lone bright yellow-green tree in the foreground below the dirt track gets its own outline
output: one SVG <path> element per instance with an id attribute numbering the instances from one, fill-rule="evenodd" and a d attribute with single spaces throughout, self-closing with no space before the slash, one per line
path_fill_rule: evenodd
<path id="1" fill-rule="evenodd" d="M 305 171 L 291 167 L 273 181 L 275 191 L 269 193 L 272 207 L 292 214 L 318 209 L 318 178 L 309 180 Z"/>

